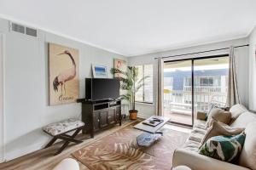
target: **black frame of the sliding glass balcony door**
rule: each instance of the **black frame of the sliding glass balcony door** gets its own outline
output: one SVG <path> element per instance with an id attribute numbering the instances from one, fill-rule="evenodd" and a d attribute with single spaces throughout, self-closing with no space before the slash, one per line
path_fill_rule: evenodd
<path id="1" fill-rule="evenodd" d="M 192 103 L 192 107 L 191 107 L 191 110 L 192 110 L 192 125 L 188 125 L 188 124 L 184 124 L 184 123 L 181 123 L 181 122 L 172 122 L 172 119 L 171 119 L 171 123 L 173 124 L 177 124 L 177 125 L 182 125 L 182 126 L 185 126 L 185 127 L 194 127 L 194 123 L 195 123 L 195 108 L 194 108 L 194 101 L 195 101 L 195 93 L 194 93 L 194 61 L 195 60 L 199 60 L 199 59 L 214 59 L 214 58 L 220 58 L 220 57 L 228 57 L 229 54 L 218 54 L 218 55 L 207 55 L 207 56 L 202 56 L 202 57 L 195 57 L 195 58 L 188 58 L 188 59 L 170 59 L 170 60 L 166 60 L 164 61 L 164 63 L 172 63 L 172 62 L 176 62 L 176 61 L 185 61 L 185 60 L 191 60 L 191 95 L 192 95 L 192 99 L 191 99 L 191 103 Z M 164 68 L 163 68 L 164 69 Z M 163 87 L 164 88 L 164 87 Z"/>

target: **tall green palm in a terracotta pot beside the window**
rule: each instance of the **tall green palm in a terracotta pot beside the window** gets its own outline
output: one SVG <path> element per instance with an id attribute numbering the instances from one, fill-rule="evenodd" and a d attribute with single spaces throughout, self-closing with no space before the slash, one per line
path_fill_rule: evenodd
<path id="1" fill-rule="evenodd" d="M 144 80 L 148 77 L 138 78 L 138 69 L 135 66 L 127 66 L 127 71 L 120 71 L 116 68 L 112 68 L 110 71 L 112 74 L 119 74 L 119 77 L 117 78 L 119 78 L 121 82 L 120 88 L 125 91 L 125 94 L 121 94 L 120 97 L 130 103 L 130 119 L 137 119 L 135 95 L 137 94 L 137 91 L 143 87 Z"/>

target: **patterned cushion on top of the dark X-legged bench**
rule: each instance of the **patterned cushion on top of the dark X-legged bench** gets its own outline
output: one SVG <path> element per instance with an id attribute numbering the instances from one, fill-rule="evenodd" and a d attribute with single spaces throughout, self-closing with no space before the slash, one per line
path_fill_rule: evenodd
<path id="1" fill-rule="evenodd" d="M 61 133 L 66 133 L 67 131 L 70 131 L 72 129 L 78 128 L 78 127 L 83 127 L 84 126 L 84 122 L 81 122 L 78 119 L 67 119 L 65 121 L 62 122 L 54 122 L 51 123 L 49 125 L 47 125 L 46 127 L 43 127 L 43 130 L 46 133 L 49 133 L 53 136 L 61 134 Z"/>

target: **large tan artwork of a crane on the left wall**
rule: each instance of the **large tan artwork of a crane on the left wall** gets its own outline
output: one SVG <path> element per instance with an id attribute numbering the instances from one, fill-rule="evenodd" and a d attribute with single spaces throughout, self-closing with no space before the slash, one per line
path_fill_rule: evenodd
<path id="1" fill-rule="evenodd" d="M 79 50 L 49 43 L 49 105 L 79 98 Z"/>

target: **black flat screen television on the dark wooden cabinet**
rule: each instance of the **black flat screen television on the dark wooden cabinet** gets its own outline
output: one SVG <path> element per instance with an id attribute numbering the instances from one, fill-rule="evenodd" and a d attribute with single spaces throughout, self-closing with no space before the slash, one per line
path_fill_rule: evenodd
<path id="1" fill-rule="evenodd" d="M 120 82 L 111 78 L 85 78 L 85 99 L 96 101 L 119 98 Z"/>

